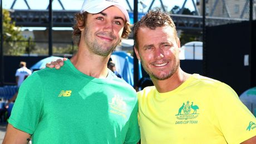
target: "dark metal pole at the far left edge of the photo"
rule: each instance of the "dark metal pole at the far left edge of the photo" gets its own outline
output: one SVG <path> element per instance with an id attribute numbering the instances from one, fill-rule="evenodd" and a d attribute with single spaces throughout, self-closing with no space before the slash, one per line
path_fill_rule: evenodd
<path id="1" fill-rule="evenodd" d="M 0 85 L 3 86 L 4 85 L 4 59 L 3 59 L 3 5 L 2 5 L 2 0 L 1 0 L 1 8 L 0 8 L 0 21 L 1 21 L 1 26 L 0 26 L 0 37 L 1 37 L 1 48 L 0 48 L 0 54 L 1 54 L 1 71 L 0 71 L 0 79 L 1 79 L 1 82 L 0 82 Z"/>

